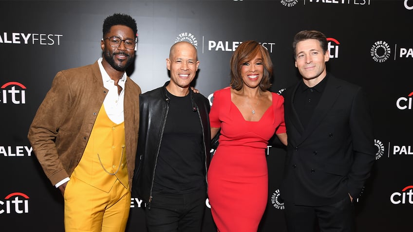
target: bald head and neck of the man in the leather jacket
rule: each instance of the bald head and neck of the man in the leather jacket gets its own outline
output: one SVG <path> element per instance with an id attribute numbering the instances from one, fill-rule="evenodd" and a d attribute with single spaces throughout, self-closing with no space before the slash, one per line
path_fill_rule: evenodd
<path id="1" fill-rule="evenodd" d="M 188 93 L 189 84 L 195 78 L 199 61 L 195 47 L 188 42 L 178 42 L 170 50 L 167 68 L 170 71 L 170 93 L 179 96 Z"/>

